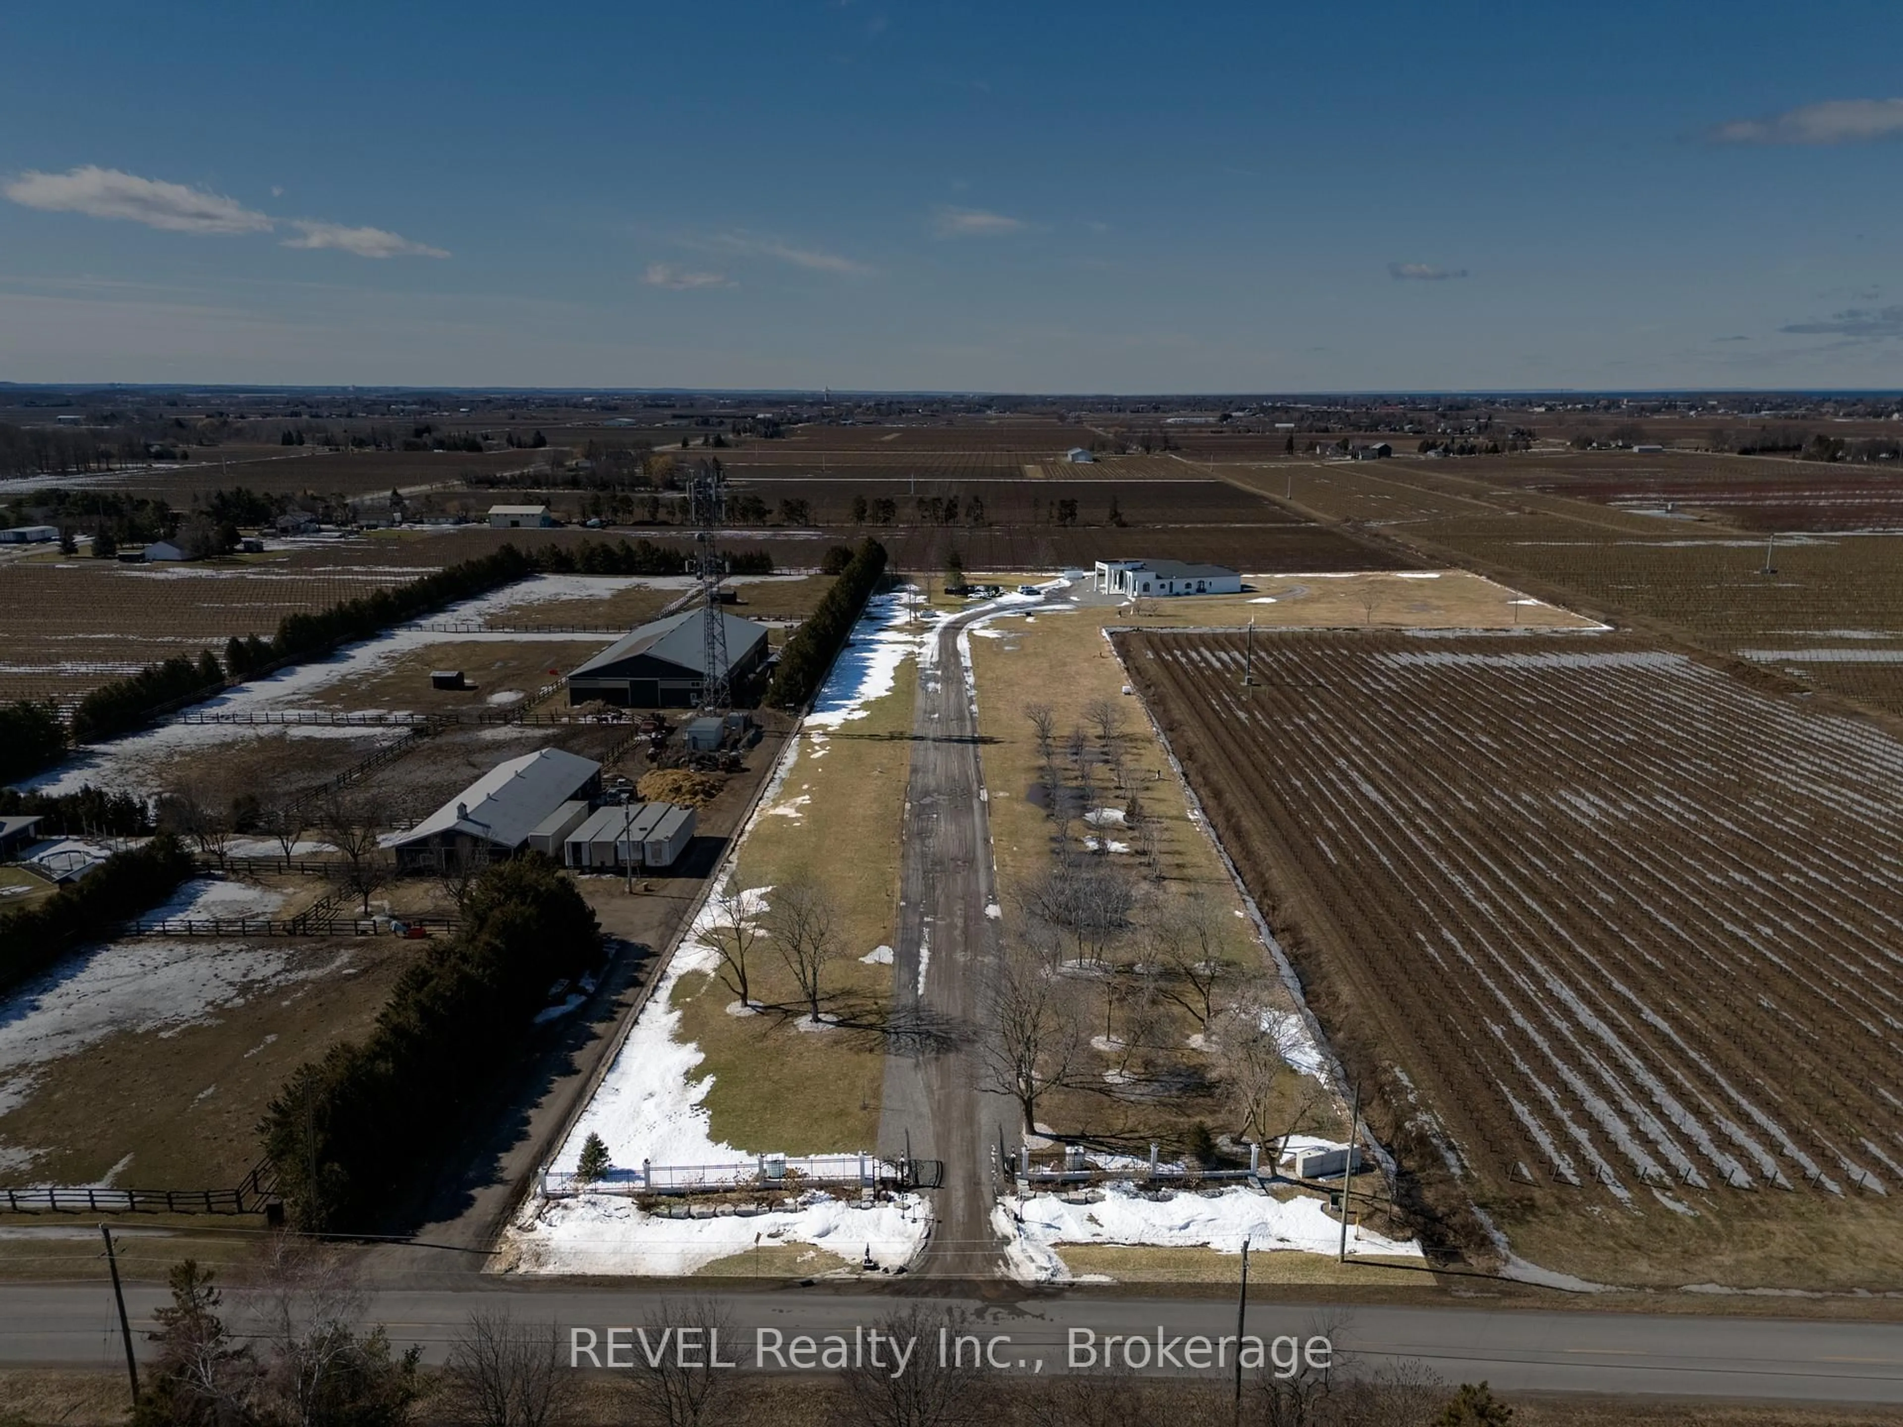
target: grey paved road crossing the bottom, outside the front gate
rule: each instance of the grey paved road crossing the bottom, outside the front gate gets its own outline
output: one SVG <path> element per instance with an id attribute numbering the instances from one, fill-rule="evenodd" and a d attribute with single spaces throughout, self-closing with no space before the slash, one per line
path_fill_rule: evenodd
<path id="1" fill-rule="evenodd" d="M 698 1286 L 702 1292 L 706 1284 Z M 556 1320 L 563 1330 L 590 1328 L 605 1343 L 607 1328 L 662 1326 L 668 1303 L 687 1290 L 575 1288 L 563 1284 L 495 1284 L 472 1280 L 462 1290 L 386 1290 L 369 1300 L 369 1315 L 390 1328 L 398 1345 L 421 1343 L 440 1362 L 470 1311 L 508 1309 L 518 1319 Z M 150 1326 L 160 1290 L 128 1288 L 135 1326 Z M 725 1296 L 736 1351 L 746 1368 L 759 1364 L 761 1328 L 795 1334 L 843 1334 L 877 1326 L 891 1298 L 835 1294 L 826 1288 L 736 1292 Z M 1069 1368 L 1069 1334 L 1142 1336 L 1155 1341 L 1235 1332 L 1235 1305 L 1214 1300 L 1031 1298 L 1022 1303 L 971 1305 L 967 1332 L 990 1343 L 993 1364 L 1018 1372 Z M 236 1319 L 234 1319 L 236 1320 Z M 1678 1397 L 1785 1398 L 1815 1402 L 1893 1402 L 1903 1406 L 1903 1324 L 1814 1322 L 1783 1319 L 1644 1317 L 1627 1313 L 1545 1313 L 1519 1307 L 1353 1307 L 1254 1303 L 1246 1332 L 1260 1338 L 1328 1336 L 1355 1362 L 1395 1359 L 1423 1362 L 1450 1381 L 1488 1379 L 1515 1391 L 1661 1393 Z M 148 1353 L 143 1338 L 141 1353 Z M 1180 1349 L 1178 1349 L 1180 1351 Z M 1121 1357 L 1121 1351 L 1119 1351 Z M 1151 1353 L 1153 1357 L 1153 1353 Z M 122 1362 L 112 1324 L 112 1298 L 93 1284 L 8 1284 L 0 1288 L 0 1366 L 97 1366 Z M 603 1366 L 607 1366 L 603 1362 Z M 771 1359 L 767 1368 L 776 1366 Z M 792 1364 L 788 1364 L 792 1366 Z"/>

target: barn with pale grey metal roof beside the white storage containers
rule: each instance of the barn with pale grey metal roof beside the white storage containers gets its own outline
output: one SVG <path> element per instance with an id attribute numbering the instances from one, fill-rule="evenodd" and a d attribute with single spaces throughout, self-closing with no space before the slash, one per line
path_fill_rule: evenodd
<path id="1" fill-rule="evenodd" d="M 377 841 L 396 852 L 405 871 L 508 858 L 563 803 L 592 793 L 599 778 L 599 763 L 542 748 L 497 763 L 415 828 Z"/>

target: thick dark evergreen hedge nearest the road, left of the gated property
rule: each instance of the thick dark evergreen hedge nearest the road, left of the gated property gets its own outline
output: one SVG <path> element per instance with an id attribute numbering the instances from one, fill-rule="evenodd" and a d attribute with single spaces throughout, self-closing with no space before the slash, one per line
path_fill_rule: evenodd
<path id="1" fill-rule="evenodd" d="M 550 982 L 599 957 L 594 911 L 552 862 L 485 871 L 462 930 L 403 970 L 371 1033 L 301 1065 L 265 1111 L 291 1222 L 365 1233 L 407 1212 L 489 1109 Z"/>

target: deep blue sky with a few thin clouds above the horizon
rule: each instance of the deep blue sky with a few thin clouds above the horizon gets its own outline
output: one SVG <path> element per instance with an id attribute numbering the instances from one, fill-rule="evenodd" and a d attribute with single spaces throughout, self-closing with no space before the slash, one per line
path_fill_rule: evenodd
<path id="1" fill-rule="evenodd" d="M 8 6 L 0 379 L 1895 386 L 1903 8 Z"/>

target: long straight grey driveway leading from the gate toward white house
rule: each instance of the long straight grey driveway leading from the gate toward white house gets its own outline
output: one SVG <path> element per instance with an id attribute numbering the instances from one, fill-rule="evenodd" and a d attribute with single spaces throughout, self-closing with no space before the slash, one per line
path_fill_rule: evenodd
<path id="1" fill-rule="evenodd" d="M 1010 1102 L 978 1088 L 969 1045 L 999 932 L 986 915 L 997 904 L 997 877 L 978 717 L 957 651 L 959 632 L 984 613 L 944 622 L 931 656 L 921 660 L 893 948 L 894 1014 L 912 1018 L 921 1031 L 887 1056 L 879 1153 L 902 1153 L 910 1136 L 915 1157 L 944 1161 L 944 1187 L 932 1197 L 932 1242 L 921 1263 L 931 1279 L 995 1277 L 990 1157 L 1016 1128 Z M 952 1045 L 959 1035 L 965 1043 Z"/>

